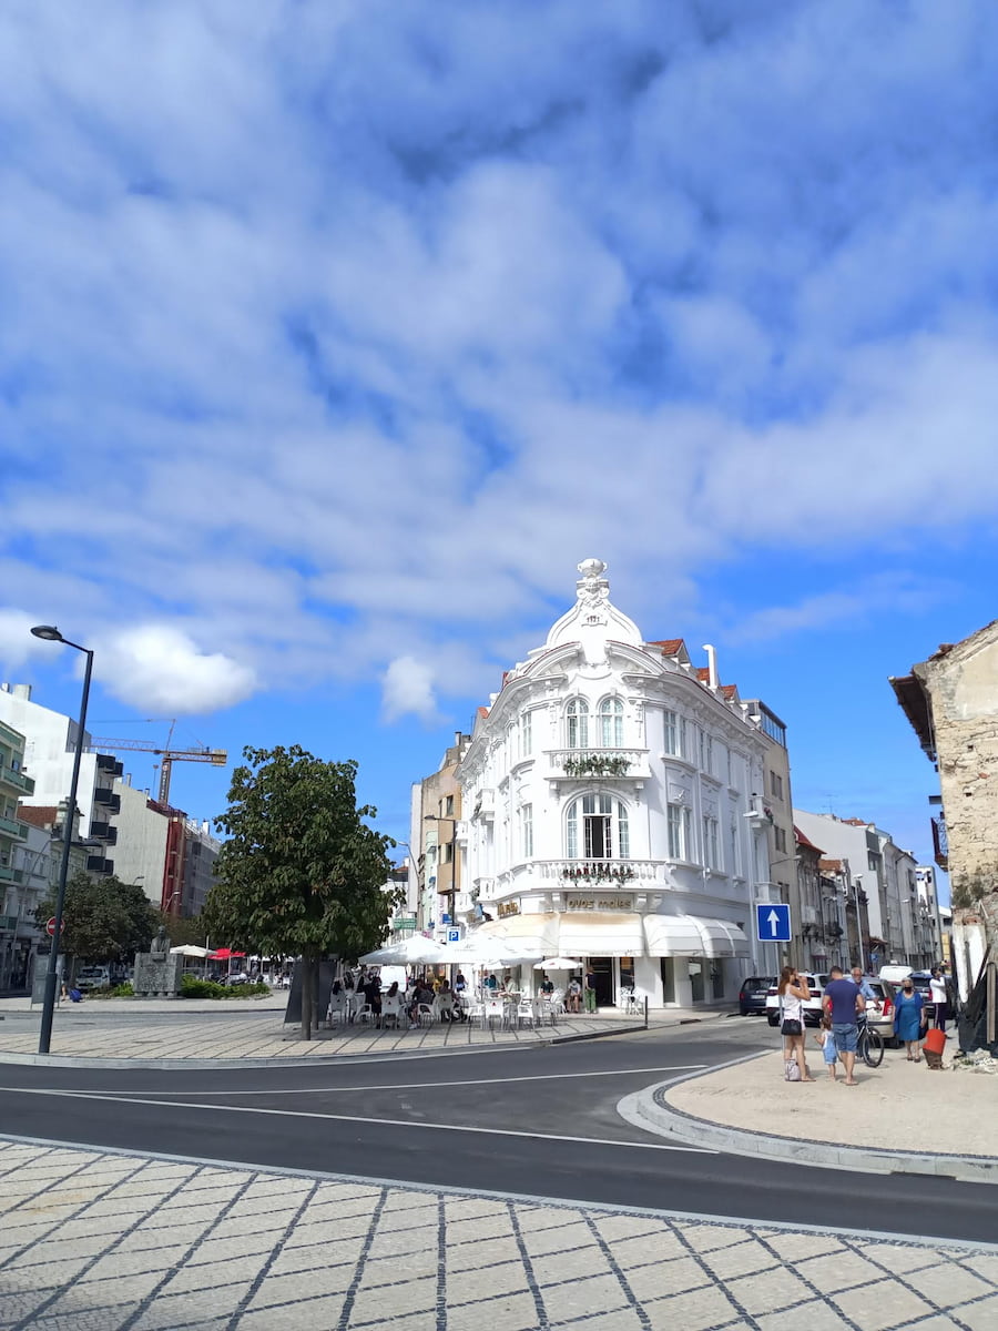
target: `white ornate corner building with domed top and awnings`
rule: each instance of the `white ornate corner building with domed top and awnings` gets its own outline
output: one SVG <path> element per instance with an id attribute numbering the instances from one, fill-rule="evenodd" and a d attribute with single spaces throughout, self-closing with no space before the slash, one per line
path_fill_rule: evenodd
<path id="1" fill-rule="evenodd" d="M 732 998 L 777 964 L 753 941 L 769 884 L 766 740 L 676 639 L 645 643 L 579 564 L 575 606 L 479 708 L 458 768 L 466 906 L 535 956 L 587 958 L 600 1002 Z M 460 902 L 459 902 L 460 905 Z"/>

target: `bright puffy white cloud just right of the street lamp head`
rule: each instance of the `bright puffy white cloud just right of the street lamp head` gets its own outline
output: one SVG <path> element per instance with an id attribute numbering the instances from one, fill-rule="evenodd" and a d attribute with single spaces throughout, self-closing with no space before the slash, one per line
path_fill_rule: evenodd
<path id="1" fill-rule="evenodd" d="M 253 671 L 222 652 L 202 652 L 177 628 L 145 624 L 101 643 L 94 673 L 137 709 L 190 715 L 233 707 L 255 689 Z"/>

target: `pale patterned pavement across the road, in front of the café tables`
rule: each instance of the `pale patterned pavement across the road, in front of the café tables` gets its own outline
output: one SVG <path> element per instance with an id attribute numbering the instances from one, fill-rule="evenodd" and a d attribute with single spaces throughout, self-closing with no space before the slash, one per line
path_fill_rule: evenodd
<path id="1" fill-rule="evenodd" d="M 335 1026 L 319 1030 L 309 1042 L 285 1028 L 279 1017 L 233 1016 L 198 1020 L 184 1016 L 141 1022 L 100 1014 L 90 1021 L 76 1013 L 59 1021 L 52 1053 L 76 1058 L 136 1059 L 240 1059 L 248 1058 L 327 1058 L 333 1054 L 411 1053 L 432 1049 L 467 1049 L 490 1045 L 516 1045 L 564 1038 L 566 1036 L 609 1034 L 633 1030 L 636 1018 L 559 1017 L 556 1026 L 534 1030 L 482 1029 L 478 1022 L 435 1024 L 416 1030 L 378 1030 L 371 1026 Z M 39 1047 L 36 1025 L 0 1025 L 0 1058 L 4 1054 L 33 1054 Z"/>

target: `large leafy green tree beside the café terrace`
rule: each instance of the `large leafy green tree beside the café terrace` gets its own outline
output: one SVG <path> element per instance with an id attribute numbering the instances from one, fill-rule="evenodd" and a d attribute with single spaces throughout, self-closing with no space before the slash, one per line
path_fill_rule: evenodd
<path id="1" fill-rule="evenodd" d="M 367 827 L 357 807 L 357 763 L 326 763 L 299 745 L 245 748 L 226 833 L 205 905 L 213 940 L 302 966 L 302 1037 L 311 1038 L 319 957 L 358 957 L 377 948 L 397 894 L 382 890 L 391 837 Z"/>

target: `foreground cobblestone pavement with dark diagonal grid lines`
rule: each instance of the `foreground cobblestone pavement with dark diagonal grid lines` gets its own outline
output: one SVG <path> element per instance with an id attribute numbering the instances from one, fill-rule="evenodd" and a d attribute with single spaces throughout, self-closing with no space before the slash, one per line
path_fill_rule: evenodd
<path id="1" fill-rule="evenodd" d="M 0 1139 L 4 1331 L 993 1331 L 998 1250 Z"/>

